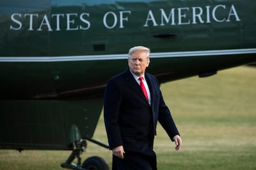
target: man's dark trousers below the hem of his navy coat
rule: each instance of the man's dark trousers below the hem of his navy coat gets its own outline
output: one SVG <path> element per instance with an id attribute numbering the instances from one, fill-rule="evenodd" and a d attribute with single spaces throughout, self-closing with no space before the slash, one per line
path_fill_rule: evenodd
<path id="1" fill-rule="evenodd" d="M 125 151 L 124 159 L 113 156 L 112 170 L 157 170 L 156 153 Z"/>

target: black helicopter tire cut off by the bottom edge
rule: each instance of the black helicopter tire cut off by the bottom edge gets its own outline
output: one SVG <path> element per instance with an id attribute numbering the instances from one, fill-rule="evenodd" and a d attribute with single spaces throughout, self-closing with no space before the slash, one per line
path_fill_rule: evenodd
<path id="1" fill-rule="evenodd" d="M 106 160 L 97 156 L 86 158 L 82 167 L 88 170 L 109 170 Z"/>

